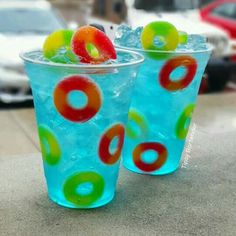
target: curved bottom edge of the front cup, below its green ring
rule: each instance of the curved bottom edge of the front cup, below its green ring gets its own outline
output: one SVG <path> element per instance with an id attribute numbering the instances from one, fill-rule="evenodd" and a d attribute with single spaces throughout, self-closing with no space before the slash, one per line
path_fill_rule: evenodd
<path id="1" fill-rule="evenodd" d="M 92 204 L 90 206 L 86 206 L 86 207 L 76 206 L 72 203 L 60 200 L 60 199 L 58 199 L 56 197 L 53 197 L 51 195 L 48 195 L 48 197 L 52 202 L 56 203 L 59 206 L 65 207 L 65 208 L 70 208 L 70 209 L 93 209 L 93 208 L 102 207 L 102 206 L 108 204 L 109 202 L 111 202 L 114 198 L 114 194 L 112 196 L 110 196 L 109 198 L 106 198 L 102 201 L 99 201 L 97 203 L 94 203 L 94 204 Z"/>

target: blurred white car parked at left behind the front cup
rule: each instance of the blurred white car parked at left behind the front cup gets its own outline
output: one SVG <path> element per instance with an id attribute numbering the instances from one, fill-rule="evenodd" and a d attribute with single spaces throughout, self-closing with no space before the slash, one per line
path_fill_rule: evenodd
<path id="1" fill-rule="evenodd" d="M 46 1 L 0 1 L 0 103 L 32 100 L 21 51 L 40 48 L 66 23 Z"/>

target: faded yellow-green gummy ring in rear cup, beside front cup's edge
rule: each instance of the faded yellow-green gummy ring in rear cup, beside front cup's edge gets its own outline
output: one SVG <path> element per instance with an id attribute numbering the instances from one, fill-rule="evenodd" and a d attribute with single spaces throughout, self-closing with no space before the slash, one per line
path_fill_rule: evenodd
<path id="1" fill-rule="evenodd" d="M 137 132 L 132 129 L 130 121 L 133 121 L 138 125 L 140 132 Z M 126 134 L 131 139 L 139 139 L 142 137 L 146 137 L 148 134 L 148 122 L 145 116 L 133 108 L 131 108 L 129 111 L 129 122 L 126 126 Z"/>

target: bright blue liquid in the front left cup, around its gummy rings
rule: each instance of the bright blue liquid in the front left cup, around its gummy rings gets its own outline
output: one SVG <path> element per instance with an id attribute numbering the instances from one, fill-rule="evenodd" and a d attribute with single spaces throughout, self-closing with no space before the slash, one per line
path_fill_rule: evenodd
<path id="1" fill-rule="evenodd" d="M 122 56 L 125 56 L 125 53 L 121 53 L 120 57 Z M 131 59 L 135 61 L 137 58 Z M 50 199 L 70 208 L 94 208 L 108 203 L 115 193 L 120 161 L 111 165 L 102 162 L 98 153 L 99 142 L 104 132 L 114 124 L 122 124 L 125 127 L 127 123 L 137 65 L 96 72 L 29 62 L 25 63 L 25 67 L 33 90 L 38 127 L 43 127 L 51 133 L 60 147 L 60 152 L 55 154 L 60 153 L 59 162 L 52 165 L 45 158 L 47 153 L 52 152 L 52 147 L 47 144 L 47 138 L 41 140 L 46 153 L 43 165 Z M 66 119 L 55 107 L 55 87 L 71 75 L 89 78 L 101 93 L 102 106 L 95 116 L 84 123 Z M 79 108 L 86 104 L 87 98 L 83 93 L 71 92 L 67 101 L 72 107 Z M 109 147 L 110 153 L 113 154 L 116 148 L 117 140 L 114 138 Z M 69 179 L 85 172 L 95 173 L 100 179 L 97 180 L 96 176 L 95 180 L 91 181 L 80 179 L 81 183 L 76 186 L 73 194 L 78 194 L 78 199 L 81 198 L 83 201 L 66 197 L 65 192 L 69 191 L 71 194 L 72 191 Z M 94 200 L 89 198 L 91 193 Z"/>

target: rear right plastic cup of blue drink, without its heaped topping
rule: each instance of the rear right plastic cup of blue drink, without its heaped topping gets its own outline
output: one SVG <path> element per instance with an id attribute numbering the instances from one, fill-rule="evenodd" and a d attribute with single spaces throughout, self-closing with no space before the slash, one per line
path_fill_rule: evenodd
<path id="1" fill-rule="evenodd" d="M 208 50 L 192 52 L 129 50 L 142 53 L 145 61 L 132 95 L 123 164 L 137 173 L 168 174 L 179 167 L 212 48 L 209 45 Z"/>

